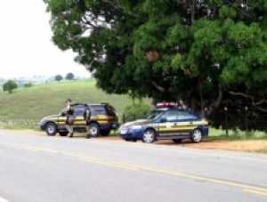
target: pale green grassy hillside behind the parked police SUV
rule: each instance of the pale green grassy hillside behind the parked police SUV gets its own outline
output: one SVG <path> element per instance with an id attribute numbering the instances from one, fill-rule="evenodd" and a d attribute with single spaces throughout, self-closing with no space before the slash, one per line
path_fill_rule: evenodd
<path id="1" fill-rule="evenodd" d="M 121 116 L 132 103 L 126 95 L 109 95 L 95 87 L 94 81 L 70 81 L 19 88 L 13 93 L 0 92 L 0 119 L 40 119 L 59 114 L 67 98 L 87 103 L 109 102 Z M 145 100 L 149 102 L 149 100 Z"/>

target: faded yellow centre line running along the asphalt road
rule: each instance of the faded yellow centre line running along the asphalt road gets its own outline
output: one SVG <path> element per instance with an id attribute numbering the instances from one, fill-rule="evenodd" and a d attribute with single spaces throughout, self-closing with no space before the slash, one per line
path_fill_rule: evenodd
<path id="1" fill-rule="evenodd" d="M 3 142 L 1 142 L 1 143 L 3 143 Z M 88 158 L 88 157 L 78 156 L 78 155 L 74 155 L 74 154 L 70 154 L 70 153 L 55 152 L 55 151 L 48 150 L 48 149 L 36 149 L 36 148 L 21 147 L 20 145 L 15 145 L 15 144 L 10 144 L 10 143 L 4 143 L 4 144 L 6 144 L 12 148 L 16 148 L 16 149 L 40 150 L 40 151 L 44 151 L 44 152 L 61 154 L 63 156 L 67 156 L 70 158 L 77 158 L 79 160 L 88 161 L 88 162 L 97 163 L 97 164 L 106 165 L 106 166 L 115 166 L 115 167 L 126 168 L 126 169 L 130 169 L 130 170 L 134 170 L 134 171 L 138 171 L 138 170 L 141 171 L 142 170 L 142 171 L 158 173 L 158 174 L 168 174 L 168 175 L 173 175 L 173 176 L 192 179 L 192 180 L 201 180 L 201 181 L 205 181 L 205 182 L 213 182 L 213 183 L 217 183 L 217 184 L 222 184 L 222 185 L 226 185 L 226 186 L 240 188 L 240 189 L 243 189 L 243 190 L 248 191 L 248 192 L 258 193 L 261 195 L 265 195 L 265 194 L 267 195 L 267 189 L 265 189 L 265 188 L 250 186 L 250 185 L 246 185 L 246 184 L 238 183 L 238 182 L 216 180 L 214 178 L 201 177 L 201 176 L 191 175 L 191 174 L 181 174 L 181 173 L 176 173 L 176 172 L 171 172 L 171 171 L 166 171 L 166 170 L 160 170 L 160 169 L 155 169 L 155 168 L 145 167 L 145 166 L 134 166 L 134 165 L 129 165 L 129 164 L 121 164 L 121 163 L 102 160 L 102 159 L 98 159 L 98 158 Z"/>

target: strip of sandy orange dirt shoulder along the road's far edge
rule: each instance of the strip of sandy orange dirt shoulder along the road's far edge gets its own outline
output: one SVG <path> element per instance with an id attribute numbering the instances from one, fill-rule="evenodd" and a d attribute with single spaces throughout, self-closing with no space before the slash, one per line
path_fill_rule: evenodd
<path id="1" fill-rule="evenodd" d="M 3 133 L 23 133 L 31 135 L 46 135 L 45 132 L 35 131 L 35 130 L 9 130 L 0 129 Z M 85 138 L 83 134 L 76 134 L 76 138 Z M 118 136 L 107 136 L 107 137 L 97 137 L 97 139 L 103 141 L 123 141 Z M 142 143 L 142 141 L 137 141 L 137 143 Z M 158 145 L 168 145 L 171 147 L 189 147 L 197 149 L 225 149 L 225 150 L 246 150 L 246 151 L 263 151 L 267 150 L 267 141 L 212 141 L 203 140 L 200 143 L 191 143 L 188 140 L 183 140 L 181 143 L 174 143 L 171 140 L 161 140 L 156 141 L 155 144 Z"/>

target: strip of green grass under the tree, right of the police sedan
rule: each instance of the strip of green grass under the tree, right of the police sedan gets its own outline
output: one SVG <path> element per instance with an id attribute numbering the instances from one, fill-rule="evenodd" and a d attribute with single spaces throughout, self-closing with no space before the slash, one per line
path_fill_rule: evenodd
<path id="1" fill-rule="evenodd" d="M 209 128 L 209 136 L 206 138 L 213 141 L 246 141 L 246 140 L 267 140 L 267 134 L 259 131 L 252 132 L 235 132 L 229 131 L 229 135 L 226 136 L 225 131 L 220 129 Z"/>

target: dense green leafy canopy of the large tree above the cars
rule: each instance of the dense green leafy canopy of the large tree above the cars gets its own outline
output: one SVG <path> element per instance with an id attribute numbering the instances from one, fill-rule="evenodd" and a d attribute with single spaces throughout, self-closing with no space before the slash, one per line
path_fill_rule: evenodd
<path id="1" fill-rule="evenodd" d="M 107 93 L 264 110 L 267 0 L 44 0 L 53 42 Z"/>

